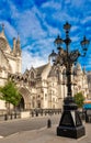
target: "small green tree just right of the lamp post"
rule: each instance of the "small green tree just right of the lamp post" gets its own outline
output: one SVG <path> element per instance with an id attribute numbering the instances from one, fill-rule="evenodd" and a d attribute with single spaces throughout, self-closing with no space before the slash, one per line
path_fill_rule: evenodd
<path id="1" fill-rule="evenodd" d="M 84 97 L 82 92 L 78 92 L 75 95 L 75 102 L 77 103 L 78 108 L 82 108 L 84 101 Z"/>

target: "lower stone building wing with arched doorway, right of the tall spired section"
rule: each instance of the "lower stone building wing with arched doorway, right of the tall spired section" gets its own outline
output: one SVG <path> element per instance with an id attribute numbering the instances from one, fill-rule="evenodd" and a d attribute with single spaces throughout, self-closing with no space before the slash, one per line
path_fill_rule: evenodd
<path id="1" fill-rule="evenodd" d="M 50 63 L 41 67 L 26 69 L 24 74 L 10 74 L 16 82 L 22 100 L 19 108 L 23 109 L 60 109 L 67 96 L 65 67 L 52 66 Z M 77 64 L 71 75 L 72 96 L 81 91 L 89 95 L 87 73 Z"/>

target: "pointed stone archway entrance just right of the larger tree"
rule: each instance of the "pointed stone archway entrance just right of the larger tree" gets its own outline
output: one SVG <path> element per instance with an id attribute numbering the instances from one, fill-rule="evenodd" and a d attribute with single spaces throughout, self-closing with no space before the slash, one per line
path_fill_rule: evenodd
<path id="1" fill-rule="evenodd" d="M 21 87 L 19 89 L 19 92 L 22 96 L 20 103 L 23 106 L 24 110 L 31 109 L 31 92 L 29 91 L 29 89 L 25 87 Z"/>

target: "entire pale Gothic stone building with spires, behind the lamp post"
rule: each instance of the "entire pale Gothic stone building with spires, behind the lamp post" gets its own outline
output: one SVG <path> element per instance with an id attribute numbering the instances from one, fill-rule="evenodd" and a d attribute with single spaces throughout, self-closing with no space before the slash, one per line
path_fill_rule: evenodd
<path id="1" fill-rule="evenodd" d="M 3 86 L 8 78 L 15 81 L 22 96 L 18 109 L 60 109 L 62 100 L 67 95 L 66 69 L 55 67 L 48 62 L 37 68 L 31 67 L 23 74 L 22 53 L 20 38 L 13 38 L 13 47 L 4 34 L 0 33 L 0 86 Z M 80 64 L 72 67 L 72 96 L 82 91 L 88 96 L 87 73 L 81 69 Z M 5 102 L 0 100 L 0 109 L 5 109 Z"/>

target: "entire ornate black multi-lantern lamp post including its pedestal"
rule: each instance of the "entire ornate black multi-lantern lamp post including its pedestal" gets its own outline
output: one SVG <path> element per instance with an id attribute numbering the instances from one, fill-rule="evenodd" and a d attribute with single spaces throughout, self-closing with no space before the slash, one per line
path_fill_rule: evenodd
<path id="1" fill-rule="evenodd" d="M 86 56 L 88 45 L 90 43 L 89 40 L 83 37 L 83 41 L 80 42 L 82 46 L 83 53 L 81 54 L 79 50 L 70 51 L 69 45 L 71 40 L 69 37 L 69 31 L 71 25 L 66 22 L 64 24 L 64 30 L 66 32 L 66 38 L 62 40 L 58 35 L 55 40 L 55 44 L 57 46 L 58 53 L 56 54 L 54 51 L 50 54 L 50 57 L 54 61 L 54 65 L 60 65 L 66 67 L 66 76 L 67 76 L 67 96 L 64 99 L 64 111 L 59 121 L 59 125 L 57 127 L 57 135 L 67 136 L 78 139 L 86 134 L 84 127 L 80 119 L 78 107 L 73 101 L 72 91 L 71 91 L 71 67 L 78 61 L 80 56 Z M 61 44 L 66 45 L 64 50 Z"/>

